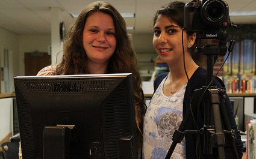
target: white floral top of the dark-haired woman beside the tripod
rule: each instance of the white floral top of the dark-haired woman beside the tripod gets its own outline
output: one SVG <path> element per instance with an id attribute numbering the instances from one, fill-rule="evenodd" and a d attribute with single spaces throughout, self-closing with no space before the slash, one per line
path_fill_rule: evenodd
<path id="1" fill-rule="evenodd" d="M 163 94 L 164 79 L 151 99 L 144 118 L 143 158 L 164 158 L 172 144 L 172 135 L 183 120 L 183 98 L 187 86 L 167 97 Z M 171 158 L 186 158 L 185 139 L 178 143 Z"/>

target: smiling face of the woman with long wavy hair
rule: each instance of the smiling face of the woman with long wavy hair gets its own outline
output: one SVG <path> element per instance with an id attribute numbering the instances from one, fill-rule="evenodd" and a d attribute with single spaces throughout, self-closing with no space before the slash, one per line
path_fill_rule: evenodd
<path id="1" fill-rule="evenodd" d="M 95 12 L 87 17 L 83 31 L 83 47 L 88 65 L 105 65 L 116 49 L 115 27 L 110 15 Z"/>

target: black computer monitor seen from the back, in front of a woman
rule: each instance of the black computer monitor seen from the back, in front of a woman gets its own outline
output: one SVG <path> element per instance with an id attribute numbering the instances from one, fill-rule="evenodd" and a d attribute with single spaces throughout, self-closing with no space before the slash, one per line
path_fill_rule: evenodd
<path id="1" fill-rule="evenodd" d="M 23 158 L 138 158 L 132 74 L 19 76 L 14 88 Z"/>

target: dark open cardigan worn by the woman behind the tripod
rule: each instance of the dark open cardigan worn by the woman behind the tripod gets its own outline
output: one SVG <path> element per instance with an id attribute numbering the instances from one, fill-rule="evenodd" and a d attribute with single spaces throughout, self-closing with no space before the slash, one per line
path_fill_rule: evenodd
<path id="1" fill-rule="evenodd" d="M 157 76 L 157 78 L 154 81 L 154 92 L 157 89 L 157 87 L 160 85 L 160 83 L 164 79 L 164 77 L 167 76 L 167 74 L 168 73 L 162 73 Z M 187 83 L 186 91 L 184 94 L 184 101 L 183 101 L 183 110 L 184 110 L 183 115 L 185 116 L 187 111 L 190 111 L 190 109 L 188 109 L 190 106 L 190 101 L 195 100 L 195 104 L 193 104 L 193 107 L 195 107 L 195 110 L 193 111 L 194 112 L 193 115 L 195 116 L 195 120 L 196 120 L 197 124 L 195 124 L 195 122 L 192 119 L 192 113 L 189 112 L 190 113 L 189 119 L 186 120 L 187 124 L 184 127 L 184 130 L 198 130 L 198 127 L 202 128 L 202 126 L 204 125 L 204 105 L 202 104 L 203 102 L 201 104 L 198 104 L 198 101 L 196 101 L 196 100 L 199 100 L 199 98 L 202 97 L 202 95 L 199 97 L 195 97 L 195 98 L 193 98 L 193 95 L 195 95 L 194 91 L 196 89 L 201 89 L 202 86 L 205 86 L 206 79 L 207 79 L 207 71 L 204 70 L 203 68 L 199 67 L 195 71 L 195 73 L 192 75 L 192 77 L 189 79 L 189 82 Z M 223 84 L 222 80 L 220 80 L 218 77 L 216 77 L 214 79 L 213 86 L 217 86 L 217 88 L 220 88 L 220 89 L 225 88 L 225 85 Z M 204 98 L 203 98 L 203 100 L 204 100 Z M 236 125 L 236 121 L 234 120 L 234 113 L 233 113 L 233 110 L 231 107 L 231 103 L 230 103 L 228 95 L 226 93 L 225 93 L 225 98 L 223 101 L 224 101 L 223 105 L 225 105 L 225 108 L 226 108 L 226 110 L 224 112 L 227 113 L 227 118 L 229 119 L 231 128 L 233 130 L 235 130 L 235 132 L 236 132 L 235 133 L 236 139 L 234 140 L 236 149 L 239 154 L 239 158 L 242 158 L 243 143 L 241 140 L 240 132 L 237 130 L 237 125 Z M 198 105 L 196 105 L 196 104 L 198 104 Z M 222 119 L 222 122 L 223 122 L 223 119 Z M 225 128 L 223 128 L 223 130 L 224 129 Z M 199 136 L 198 133 L 185 133 L 187 159 L 197 158 L 196 152 L 200 152 L 201 158 L 205 158 L 205 157 L 202 157 L 203 152 L 204 152 L 203 151 L 204 140 L 202 137 L 200 137 L 201 144 L 198 144 L 201 146 L 196 146 L 197 145 L 196 143 L 198 142 L 198 136 Z M 213 148 L 213 154 L 214 154 L 213 158 L 218 157 L 216 148 Z M 231 151 L 229 144 L 225 145 L 225 154 L 226 154 L 226 158 L 230 158 L 233 156 L 233 152 Z M 206 157 L 206 158 L 208 158 L 208 157 Z M 235 158 L 235 157 L 233 157 L 233 158 Z"/>

